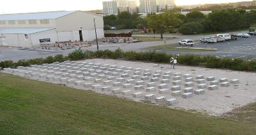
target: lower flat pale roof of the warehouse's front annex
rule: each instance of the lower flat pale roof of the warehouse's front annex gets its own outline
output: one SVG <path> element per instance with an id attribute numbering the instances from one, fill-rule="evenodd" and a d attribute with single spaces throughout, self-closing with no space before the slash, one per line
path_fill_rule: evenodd
<path id="1" fill-rule="evenodd" d="M 46 30 L 53 30 L 54 28 L 0 28 L 0 33 L 6 34 L 31 34 Z"/>

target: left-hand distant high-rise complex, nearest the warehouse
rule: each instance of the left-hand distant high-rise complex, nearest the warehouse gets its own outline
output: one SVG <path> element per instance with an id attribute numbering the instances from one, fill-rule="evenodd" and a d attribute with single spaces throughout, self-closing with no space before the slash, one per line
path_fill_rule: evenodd
<path id="1" fill-rule="evenodd" d="M 113 0 L 103 1 L 103 13 L 104 15 L 116 15 L 117 13 L 129 11 L 130 13 L 136 13 L 137 1 L 136 0 Z"/>

